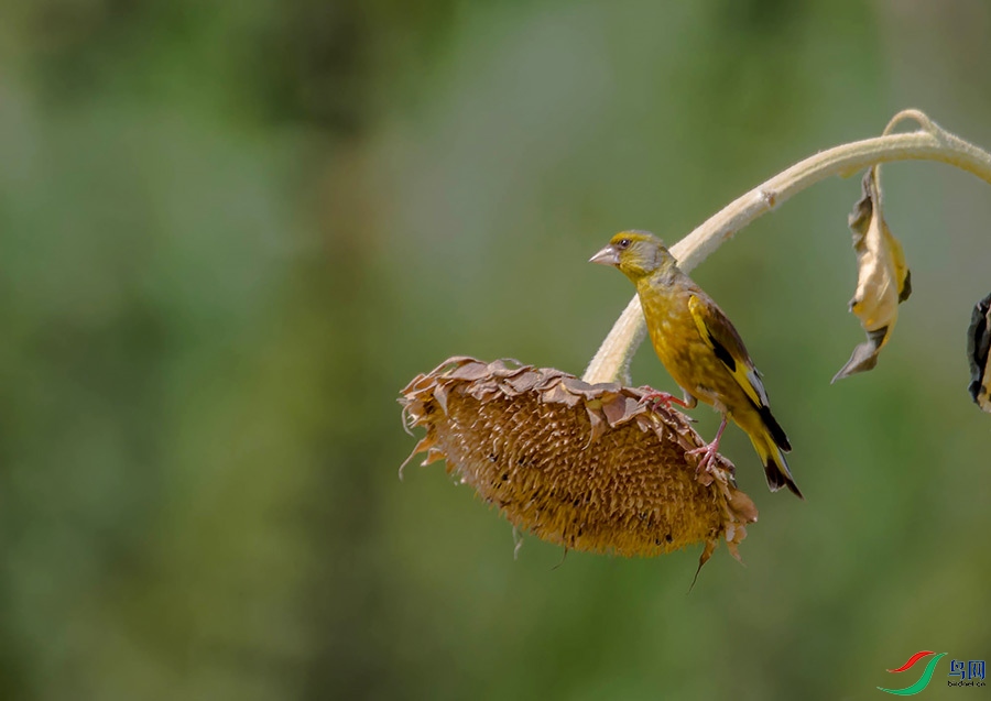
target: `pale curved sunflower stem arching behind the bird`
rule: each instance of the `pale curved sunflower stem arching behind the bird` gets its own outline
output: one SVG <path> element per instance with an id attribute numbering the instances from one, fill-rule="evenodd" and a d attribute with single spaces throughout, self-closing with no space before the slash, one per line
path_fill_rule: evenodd
<path id="1" fill-rule="evenodd" d="M 908 133 L 889 133 L 906 119 L 917 122 L 919 129 Z M 846 177 L 872 165 L 893 161 L 941 161 L 991 184 L 991 154 L 946 131 L 925 113 L 904 110 L 892 118 L 883 135 L 821 151 L 737 198 L 671 247 L 671 252 L 680 269 L 688 272 L 737 231 L 792 195 L 827 177 Z M 640 298 L 634 296 L 599 347 L 582 380 L 589 383 L 619 381 L 629 384 L 630 361 L 645 331 Z"/>

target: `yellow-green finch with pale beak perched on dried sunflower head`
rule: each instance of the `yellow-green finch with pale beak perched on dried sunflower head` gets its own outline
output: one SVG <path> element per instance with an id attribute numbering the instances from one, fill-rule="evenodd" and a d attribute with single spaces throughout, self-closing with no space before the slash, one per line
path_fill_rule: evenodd
<path id="1" fill-rule="evenodd" d="M 690 409 L 701 399 L 722 413 L 716 439 L 693 451 L 703 453 L 698 469 L 715 458 L 727 419 L 732 418 L 750 436 L 771 491 L 787 486 L 802 497 L 784 457 L 792 449 L 788 437 L 771 415 L 761 374 L 722 309 L 646 231 L 621 231 L 590 262 L 613 265 L 636 285 L 654 351 L 685 392 L 684 401 L 666 392 L 652 392 L 644 401 Z"/>

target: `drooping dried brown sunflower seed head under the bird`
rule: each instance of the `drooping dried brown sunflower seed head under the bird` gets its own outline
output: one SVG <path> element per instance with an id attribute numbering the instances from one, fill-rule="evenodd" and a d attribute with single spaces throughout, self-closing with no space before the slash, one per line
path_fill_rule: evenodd
<path id="1" fill-rule="evenodd" d="M 641 405 L 642 390 L 459 357 L 402 395 L 404 423 L 426 429 L 410 459 L 446 460 L 513 526 L 567 549 L 655 556 L 704 543 L 700 567 L 720 538 L 739 557 L 756 521 L 732 463 L 718 456 L 696 474 L 685 453 L 701 438 L 682 414 Z"/>

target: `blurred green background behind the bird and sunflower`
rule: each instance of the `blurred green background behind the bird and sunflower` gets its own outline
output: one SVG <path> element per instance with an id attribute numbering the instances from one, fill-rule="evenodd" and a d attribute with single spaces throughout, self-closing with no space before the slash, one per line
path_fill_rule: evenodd
<path id="1" fill-rule="evenodd" d="M 984 0 L 0 4 L 0 698 L 869 699 L 991 657 L 966 173 L 884 169 L 915 294 L 872 373 L 829 385 L 859 178 L 696 271 L 807 501 L 730 429 L 761 519 L 690 595 L 698 551 L 513 561 L 439 464 L 396 479 L 395 404 L 454 354 L 580 374 L 633 292 L 586 263 L 614 231 L 673 242 L 905 107 L 991 147 L 989 32 Z M 649 347 L 633 380 L 672 388 Z"/>

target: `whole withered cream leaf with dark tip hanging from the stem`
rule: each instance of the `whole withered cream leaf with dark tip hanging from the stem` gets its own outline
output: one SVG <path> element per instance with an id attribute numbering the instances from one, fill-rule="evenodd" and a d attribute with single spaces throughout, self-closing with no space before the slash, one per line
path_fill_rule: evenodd
<path id="1" fill-rule="evenodd" d="M 881 211 L 876 166 L 864 173 L 862 191 L 848 218 L 859 267 L 850 311 L 860 318 L 867 340 L 853 349 L 850 360 L 836 373 L 832 382 L 878 364 L 878 353 L 891 338 L 899 318 L 899 305 L 912 294 L 905 252 L 889 230 Z"/>

